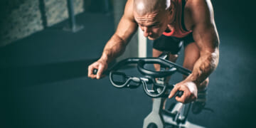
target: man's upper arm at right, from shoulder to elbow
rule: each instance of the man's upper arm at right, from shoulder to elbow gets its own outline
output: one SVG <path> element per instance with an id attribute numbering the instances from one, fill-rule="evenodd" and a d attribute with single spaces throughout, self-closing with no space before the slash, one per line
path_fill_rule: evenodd
<path id="1" fill-rule="evenodd" d="M 213 6 L 209 0 L 197 0 L 191 6 L 193 38 L 201 53 L 218 50 L 219 38 L 213 16 Z"/>

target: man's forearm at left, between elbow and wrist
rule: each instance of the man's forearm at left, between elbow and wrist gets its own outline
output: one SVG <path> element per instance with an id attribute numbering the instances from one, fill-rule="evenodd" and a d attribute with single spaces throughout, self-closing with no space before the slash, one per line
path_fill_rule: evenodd
<path id="1" fill-rule="evenodd" d="M 127 41 L 124 41 L 117 36 L 117 34 L 114 34 L 112 38 L 110 38 L 110 41 L 107 42 L 100 59 L 110 63 L 114 58 L 117 58 L 124 53 L 126 46 Z"/>

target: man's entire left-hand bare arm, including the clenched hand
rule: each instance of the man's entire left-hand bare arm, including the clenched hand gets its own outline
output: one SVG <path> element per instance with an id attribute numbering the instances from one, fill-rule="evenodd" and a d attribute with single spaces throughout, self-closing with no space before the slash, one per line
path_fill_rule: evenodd
<path id="1" fill-rule="evenodd" d="M 108 63 L 110 63 L 112 60 L 114 60 L 114 58 L 117 58 L 124 52 L 127 43 L 137 30 L 137 23 L 134 21 L 132 12 L 132 2 L 133 0 L 127 1 L 124 9 L 124 15 L 119 21 L 117 31 L 110 38 L 110 41 L 107 42 L 101 58 L 88 67 L 89 78 L 102 78 L 102 73 L 107 69 Z M 97 75 L 92 73 L 94 69 L 98 70 Z"/>

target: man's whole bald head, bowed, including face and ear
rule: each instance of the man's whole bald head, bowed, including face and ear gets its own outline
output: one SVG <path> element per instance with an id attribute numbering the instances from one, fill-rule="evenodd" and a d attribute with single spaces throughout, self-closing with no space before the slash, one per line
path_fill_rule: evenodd
<path id="1" fill-rule="evenodd" d="M 174 8 L 171 0 L 134 0 L 134 20 L 145 37 L 155 40 L 173 23 Z"/>

